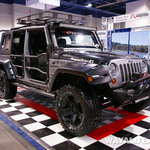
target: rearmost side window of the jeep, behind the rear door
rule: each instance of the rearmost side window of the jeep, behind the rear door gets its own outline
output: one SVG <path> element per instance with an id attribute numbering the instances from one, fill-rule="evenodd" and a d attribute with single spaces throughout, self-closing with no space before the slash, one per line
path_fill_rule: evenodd
<path id="1" fill-rule="evenodd" d="M 2 50 L 10 50 L 11 35 L 4 35 L 2 40 Z"/>

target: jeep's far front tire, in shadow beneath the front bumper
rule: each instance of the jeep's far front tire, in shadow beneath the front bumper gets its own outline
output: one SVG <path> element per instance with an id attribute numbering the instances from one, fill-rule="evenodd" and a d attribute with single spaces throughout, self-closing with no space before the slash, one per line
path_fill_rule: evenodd
<path id="1" fill-rule="evenodd" d="M 149 106 L 149 103 L 150 103 L 150 100 L 145 100 L 136 104 L 129 104 L 129 105 L 123 106 L 122 108 L 130 112 L 139 112 L 145 109 L 147 106 Z"/>

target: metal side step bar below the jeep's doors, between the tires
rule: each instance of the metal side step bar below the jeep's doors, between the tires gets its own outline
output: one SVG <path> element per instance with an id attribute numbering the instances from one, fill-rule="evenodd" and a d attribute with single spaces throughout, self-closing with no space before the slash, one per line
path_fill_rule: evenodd
<path id="1" fill-rule="evenodd" d="M 40 89 L 37 89 L 37 88 L 34 88 L 34 87 L 26 86 L 24 84 L 20 84 L 20 83 L 16 83 L 16 82 L 14 82 L 12 84 L 15 85 L 15 86 L 19 86 L 19 87 L 25 88 L 25 89 L 30 90 L 32 92 L 35 92 L 35 93 L 38 93 L 38 94 L 41 94 L 41 95 L 53 98 L 53 99 L 55 98 L 55 94 L 47 93 L 47 92 L 44 92 L 44 91 L 42 91 Z"/>

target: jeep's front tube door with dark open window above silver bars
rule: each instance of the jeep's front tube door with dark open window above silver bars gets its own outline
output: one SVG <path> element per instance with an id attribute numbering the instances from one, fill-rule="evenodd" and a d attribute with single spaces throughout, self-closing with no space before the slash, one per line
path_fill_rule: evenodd
<path id="1" fill-rule="evenodd" d="M 28 30 L 25 71 L 31 81 L 47 82 L 47 43 L 44 29 Z"/>

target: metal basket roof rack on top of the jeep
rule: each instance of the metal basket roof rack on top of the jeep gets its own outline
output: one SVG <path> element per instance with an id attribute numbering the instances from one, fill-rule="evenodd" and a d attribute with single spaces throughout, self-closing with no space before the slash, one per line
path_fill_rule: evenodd
<path id="1" fill-rule="evenodd" d="M 31 14 L 25 17 L 18 18 L 18 24 L 33 26 L 43 25 L 50 22 L 65 23 L 65 24 L 86 24 L 86 17 L 82 15 L 74 15 L 60 11 L 47 10 L 36 14 Z"/>

